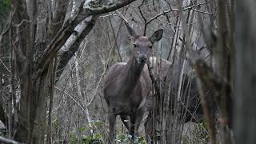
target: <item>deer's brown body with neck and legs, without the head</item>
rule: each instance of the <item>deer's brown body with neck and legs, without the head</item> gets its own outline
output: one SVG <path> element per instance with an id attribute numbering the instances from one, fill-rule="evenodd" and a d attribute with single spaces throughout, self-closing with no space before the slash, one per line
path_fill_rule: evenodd
<path id="1" fill-rule="evenodd" d="M 120 115 L 131 135 L 138 135 L 146 98 L 151 90 L 147 66 L 135 63 L 134 58 L 130 58 L 126 64 L 116 63 L 106 74 L 105 83 L 104 95 L 110 114 L 110 139 L 114 139 L 117 115 Z"/>

